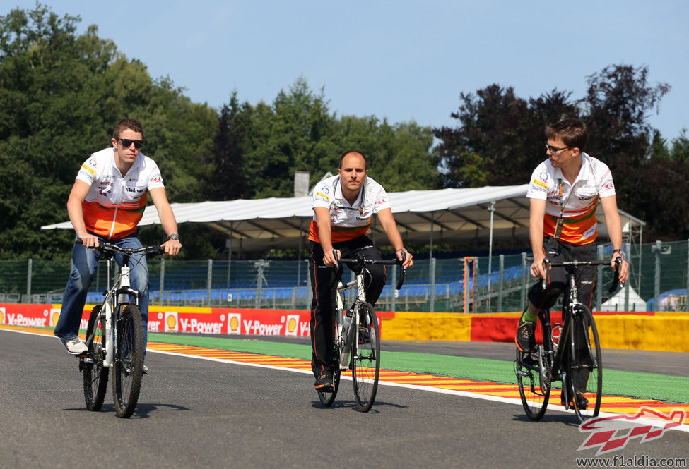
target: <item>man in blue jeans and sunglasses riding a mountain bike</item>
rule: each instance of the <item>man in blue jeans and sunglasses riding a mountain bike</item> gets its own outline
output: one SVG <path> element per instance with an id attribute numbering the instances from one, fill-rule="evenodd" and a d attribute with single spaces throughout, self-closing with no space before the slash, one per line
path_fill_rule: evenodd
<path id="1" fill-rule="evenodd" d="M 62 299 L 60 317 L 54 334 L 72 355 L 86 352 L 78 331 L 86 303 L 86 293 L 98 267 L 100 252 L 88 248 L 100 241 L 121 248 L 140 248 L 136 226 L 146 208 L 146 193 L 158 209 L 160 224 L 167 240 L 165 254 L 177 255 L 182 248 L 177 235 L 177 221 L 165 195 L 165 185 L 158 165 L 141 153 L 143 127 L 134 119 L 119 121 L 114 129 L 112 147 L 91 154 L 81 165 L 67 200 L 67 213 L 76 237 L 72 255 L 73 270 Z M 122 265 L 122 258 L 115 256 Z M 130 265 L 131 288 L 141 292 L 144 343 L 148 324 L 148 265 L 146 256 L 134 255 Z"/>

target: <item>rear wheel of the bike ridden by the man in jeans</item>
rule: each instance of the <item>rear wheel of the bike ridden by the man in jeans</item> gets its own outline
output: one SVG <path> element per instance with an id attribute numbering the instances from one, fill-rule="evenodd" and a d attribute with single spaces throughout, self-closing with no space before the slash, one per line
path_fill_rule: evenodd
<path id="1" fill-rule="evenodd" d="M 83 396 L 86 408 L 98 412 L 107 393 L 107 368 L 103 367 L 105 355 L 105 317 L 100 317 L 101 306 L 91 310 L 86 327 L 86 337 L 93 334 L 93 342 L 88 347 L 86 360 L 80 363 L 83 372 Z"/>

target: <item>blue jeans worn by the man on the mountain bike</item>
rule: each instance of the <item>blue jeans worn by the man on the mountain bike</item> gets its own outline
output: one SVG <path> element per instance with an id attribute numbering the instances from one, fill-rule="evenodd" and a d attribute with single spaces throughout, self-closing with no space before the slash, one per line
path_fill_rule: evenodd
<path id="1" fill-rule="evenodd" d="M 136 235 L 126 236 L 117 240 L 106 240 L 98 237 L 98 240 L 120 248 L 141 248 L 141 241 Z M 60 339 L 73 339 L 78 336 L 79 324 L 83 315 L 83 308 L 86 305 L 86 294 L 91 285 L 93 276 L 98 268 L 100 251 L 84 248 L 83 245 L 74 243 L 72 262 L 74 268 L 67 281 L 67 286 L 62 298 L 62 309 L 60 318 L 57 321 L 53 334 Z M 117 264 L 122 266 L 122 255 L 114 255 Z M 133 255 L 129 258 L 129 283 L 131 288 L 141 293 L 139 307 L 141 308 L 141 319 L 143 319 L 143 344 L 146 350 L 148 338 L 148 264 L 143 253 Z M 130 299 L 134 302 L 134 298 Z"/>

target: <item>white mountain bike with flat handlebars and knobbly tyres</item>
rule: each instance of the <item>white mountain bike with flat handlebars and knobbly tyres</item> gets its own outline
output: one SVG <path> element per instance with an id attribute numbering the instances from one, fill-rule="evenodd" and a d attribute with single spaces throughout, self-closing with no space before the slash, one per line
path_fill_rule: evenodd
<path id="1" fill-rule="evenodd" d="M 120 248 L 110 243 L 100 243 L 101 260 L 107 261 L 107 286 L 101 305 L 93 308 L 86 327 L 88 351 L 79 358 L 79 370 L 83 372 L 83 391 L 86 408 L 97 412 L 105 400 L 108 369 L 112 368 L 112 396 L 118 417 L 129 418 L 139 401 L 143 377 L 143 322 L 139 310 L 141 293 L 129 284 L 130 257 L 165 253 L 162 246 Z M 122 255 L 119 278 L 110 287 L 110 264 L 115 254 Z M 135 298 L 131 303 L 130 296 Z"/>

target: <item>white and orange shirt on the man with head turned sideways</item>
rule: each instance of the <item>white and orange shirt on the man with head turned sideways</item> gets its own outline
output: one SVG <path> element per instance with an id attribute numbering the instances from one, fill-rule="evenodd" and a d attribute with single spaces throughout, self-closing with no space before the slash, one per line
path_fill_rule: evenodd
<path id="1" fill-rule="evenodd" d="M 582 169 L 573 185 L 564 178 L 559 168 L 553 168 L 549 159 L 538 165 L 531 174 L 526 197 L 546 200 L 543 236 L 555 236 L 555 225 L 560 218 L 560 180 L 563 182 L 565 202 L 560 240 L 572 245 L 593 243 L 598 236 L 598 200 L 615 195 L 613 176 L 608 165 L 582 153 Z"/>

